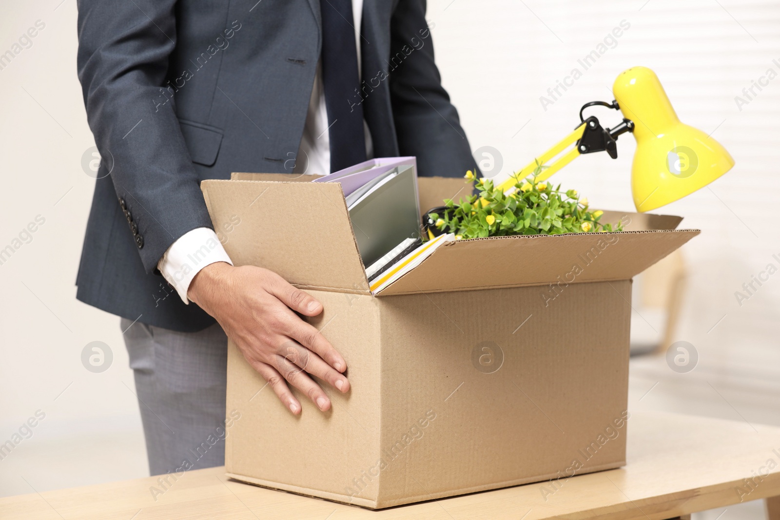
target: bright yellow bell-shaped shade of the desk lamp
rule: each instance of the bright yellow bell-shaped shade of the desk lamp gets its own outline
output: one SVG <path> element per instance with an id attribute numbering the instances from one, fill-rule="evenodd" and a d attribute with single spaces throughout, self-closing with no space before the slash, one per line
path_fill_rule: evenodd
<path id="1" fill-rule="evenodd" d="M 631 188 L 636 210 L 654 210 L 682 199 L 734 166 L 718 141 L 680 122 L 651 69 L 622 72 L 612 92 L 623 116 L 634 123 Z"/>

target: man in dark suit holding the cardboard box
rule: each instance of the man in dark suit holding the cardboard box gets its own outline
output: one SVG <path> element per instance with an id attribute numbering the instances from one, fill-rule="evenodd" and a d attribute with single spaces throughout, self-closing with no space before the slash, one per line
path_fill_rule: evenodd
<path id="1" fill-rule="evenodd" d="M 417 156 L 419 175 L 475 168 L 425 9 L 79 0 L 78 72 L 103 161 L 77 298 L 122 317 L 152 474 L 223 463 L 225 333 L 293 414 L 289 385 L 330 408 L 308 374 L 349 391 L 346 361 L 296 315 L 321 303 L 271 271 L 233 267 L 199 183 L 399 155 Z"/>

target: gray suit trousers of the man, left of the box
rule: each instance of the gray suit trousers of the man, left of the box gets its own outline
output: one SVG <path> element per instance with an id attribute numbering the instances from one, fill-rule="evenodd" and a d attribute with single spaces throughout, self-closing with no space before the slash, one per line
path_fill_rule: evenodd
<path id="1" fill-rule="evenodd" d="M 151 475 L 225 464 L 222 327 L 176 332 L 132 323 L 122 318 Z"/>

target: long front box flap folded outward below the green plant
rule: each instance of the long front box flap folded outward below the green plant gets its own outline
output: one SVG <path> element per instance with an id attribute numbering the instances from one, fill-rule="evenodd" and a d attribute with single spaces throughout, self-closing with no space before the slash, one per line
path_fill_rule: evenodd
<path id="1" fill-rule="evenodd" d="M 627 280 L 699 234 L 631 231 L 450 242 L 378 295 Z"/>

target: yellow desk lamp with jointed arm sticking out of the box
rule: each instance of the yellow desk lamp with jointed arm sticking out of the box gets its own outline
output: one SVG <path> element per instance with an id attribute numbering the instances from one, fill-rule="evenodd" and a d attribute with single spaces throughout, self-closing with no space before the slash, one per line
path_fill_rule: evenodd
<path id="1" fill-rule="evenodd" d="M 591 101 L 580 110 L 580 126 L 550 150 L 541 154 L 520 172 L 498 185 L 508 191 L 516 179 L 525 179 L 538 164 L 545 164 L 574 144 L 537 175 L 537 182 L 548 179 L 581 154 L 607 151 L 618 157 L 615 140 L 631 132 L 636 138 L 631 168 L 631 188 L 636 210 L 654 210 L 682 199 L 707 186 L 734 165 L 729 152 L 701 130 L 677 118 L 658 76 L 647 67 L 633 67 L 622 72 L 612 86 L 615 101 Z M 623 121 L 604 129 L 594 116 L 583 119 L 585 108 L 601 105 L 619 109 Z"/>

